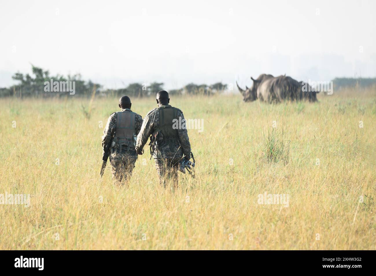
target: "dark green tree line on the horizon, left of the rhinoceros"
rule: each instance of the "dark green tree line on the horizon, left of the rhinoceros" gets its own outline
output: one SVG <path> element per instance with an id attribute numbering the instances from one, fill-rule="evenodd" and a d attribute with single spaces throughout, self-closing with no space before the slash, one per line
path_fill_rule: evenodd
<path id="1" fill-rule="evenodd" d="M 51 75 L 48 70 L 32 65 L 32 74 L 15 73 L 13 80 L 18 81 L 11 87 L 0 87 L 0 97 L 60 97 L 68 95 L 65 91 L 46 91 L 46 82 L 53 81 L 67 82 L 74 81 L 75 94 L 77 97 L 90 97 L 93 93 L 100 96 L 116 96 L 128 95 L 130 97 L 148 97 L 155 95 L 159 90 L 163 90 L 164 83 L 153 82 L 149 85 L 142 83 L 130 83 L 127 87 L 120 89 L 104 89 L 103 85 L 94 83 L 91 80 L 82 80 L 80 74 L 67 75 Z M 49 85 L 48 85 L 49 86 Z M 50 86 L 49 86 L 50 87 Z M 180 89 L 168 90 L 171 95 L 213 95 L 222 93 L 227 89 L 227 84 L 221 82 L 212 85 L 189 83 Z M 52 91 L 52 89 L 51 89 Z"/>

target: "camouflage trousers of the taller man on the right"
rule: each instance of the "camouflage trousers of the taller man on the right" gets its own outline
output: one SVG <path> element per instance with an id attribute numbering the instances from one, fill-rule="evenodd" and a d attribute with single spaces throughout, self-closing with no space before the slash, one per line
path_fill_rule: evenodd
<path id="1" fill-rule="evenodd" d="M 177 187 L 180 159 L 154 159 L 155 167 L 159 176 L 159 183 L 166 187 L 167 181 L 172 181 Z"/>

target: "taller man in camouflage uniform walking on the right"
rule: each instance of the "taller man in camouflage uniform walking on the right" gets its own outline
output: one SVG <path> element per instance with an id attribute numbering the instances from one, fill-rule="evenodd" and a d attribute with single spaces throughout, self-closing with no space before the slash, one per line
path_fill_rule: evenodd
<path id="1" fill-rule="evenodd" d="M 185 127 L 176 127 L 174 122 L 184 122 L 184 115 L 180 109 L 169 105 L 170 99 L 165 90 L 157 93 L 158 107 L 151 110 L 144 118 L 141 131 L 137 136 L 136 152 L 143 154 L 144 145 L 152 135 L 151 153 L 155 159 L 159 182 L 164 187 L 166 180 L 172 179 L 177 186 L 177 172 L 183 155 L 190 160 L 191 144 Z"/>

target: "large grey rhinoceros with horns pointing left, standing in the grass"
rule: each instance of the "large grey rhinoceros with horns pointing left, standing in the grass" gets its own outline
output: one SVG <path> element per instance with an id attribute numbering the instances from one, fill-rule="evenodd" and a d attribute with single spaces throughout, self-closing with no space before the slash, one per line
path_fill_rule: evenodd
<path id="1" fill-rule="evenodd" d="M 279 103 L 283 100 L 317 101 L 317 92 L 312 87 L 303 89 L 307 87 L 307 83 L 294 80 L 286 75 L 273 77 L 270 74 L 261 74 L 257 79 L 251 77 L 251 80 L 253 81 L 253 86 L 250 88 L 246 86 L 246 90 L 241 89 L 237 82 L 238 89 L 245 102 L 257 99 L 268 103 Z"/>

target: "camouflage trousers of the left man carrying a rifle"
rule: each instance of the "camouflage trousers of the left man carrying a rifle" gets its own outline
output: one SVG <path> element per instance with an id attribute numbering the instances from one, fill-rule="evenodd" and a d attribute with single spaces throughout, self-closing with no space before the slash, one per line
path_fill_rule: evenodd
<path id="1" fill-rule="evenodd" d="M 116 184 L 125 184 L 128 178 L 132 175 L 132 170 L 135 167 L 137 154 L 134 153 L 118 153 L 114 152 L 110 156 L 112 179 Z"/>

